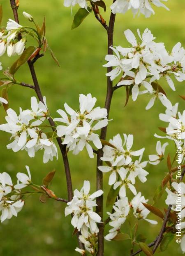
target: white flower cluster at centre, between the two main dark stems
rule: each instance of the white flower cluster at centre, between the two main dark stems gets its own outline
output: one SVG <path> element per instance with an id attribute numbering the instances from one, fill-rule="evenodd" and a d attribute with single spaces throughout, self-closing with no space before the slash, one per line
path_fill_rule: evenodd
<path id="1" fill-rule="evenodd" d="M 62 118 L 55 118 L 65 125 L 57 126 L 58 137 L 64 137 L 63 145 L 67 145 L 69 151 L 73 154 L 79 154 L 86 147 L 90 158 L 93 158 L 93 148 L 89 142 L 93 142 L 98 149 L 102 148 L 102 143 L 96 130 L 107 126 L 107 110 L 100 107 L 93 108 L 96 98 L 89 93 L 87 96 L 80 94 L 79 96 L 80 110 L 74 111 L 71 107 L 64 104 L 65 111 L 58 109 L 58 114 Z"/>

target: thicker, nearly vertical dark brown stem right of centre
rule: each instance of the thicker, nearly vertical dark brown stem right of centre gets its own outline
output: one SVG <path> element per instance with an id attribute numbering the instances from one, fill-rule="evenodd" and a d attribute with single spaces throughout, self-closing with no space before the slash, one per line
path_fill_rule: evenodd
<path id="1" fill-rule="evenodd" d="M 115 0 L 113 0 L 114 2 Z M 107 29 L 107 36 L 108 36 L 108 54 L 113 54 L 112 49 L 109 47 L 113 45 L 113 28 L 114 28 L 114 22 L 115 22 L 116 14 L 113 14 L 111 12 L 110 20 L 109 20 L 109 27 Z M 109 67 L 107 69 L 107 72 L 110 72 L 112 70 L 112 67 Z M 111 107 L 111 100 L 113 95 L 113 82 L 110 80 L 110 78 L 107 78 L 107 92 L 106 92 L 106 100 L 105 100 L 105 108 L 107 109 L 107 118 L 109 118 L 109 111 Z M 103 127 L 101 130 L 100 139 L 105 140 L 106 139 L 106 132 L 107 132 L 107 126 Z M 99 149 L 97 152 L 97 167 L 102 165 L 101 157 L 103 155 L 102 149 Z M 99 171 L 97 168 L 97 190 L 103 189 L 103 173 Z M 97 197 L 97 209 L 96 212 L 99 214 L 99 216 L 103 219 L 103 195 L 100 197 Z M 97 256 L 103 256 L 104 255 L 104 223 L 98 224 L 99 233 L 98 233 L 98 251 Z"/>

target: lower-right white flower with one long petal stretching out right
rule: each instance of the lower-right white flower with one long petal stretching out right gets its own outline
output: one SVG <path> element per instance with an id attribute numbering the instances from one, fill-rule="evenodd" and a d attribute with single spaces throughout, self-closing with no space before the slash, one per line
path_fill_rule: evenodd
<path id="1" fill-rule="evenodd" d="M 148 221 L 151 224 L 157 224 L 157 221 L 155 220 L 149 220 L 146 217 L 148 216 L 148 213 L 150 211 L 146 209 L 146 207 L 142 203 L 147 203 L 148 199 L 145 199 L 143 196 L 141 196 L 141 192 L 139 192 L 130 202 L 131 206 L 134 210 L 134 216 L 138 219 L 143 219 Z"/>

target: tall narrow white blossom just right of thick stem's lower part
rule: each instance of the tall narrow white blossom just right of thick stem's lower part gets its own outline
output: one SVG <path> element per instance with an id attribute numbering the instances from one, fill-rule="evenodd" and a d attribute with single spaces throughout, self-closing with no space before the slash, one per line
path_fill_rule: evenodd
<path id="1" fill-rule="evenodd" d="M 127 215 L 130 212 L 130 205 L 128 203 L 128 198 L 124 197 L 118 199 L 113 205 L 113 213 L 107 212 L 111 221 L 109 225 L 113 228 L 109 230 L 109 234 L 105 236 L 106 240 L 111 240 L 118 234 L 121 225 L 125 222 Z"/>

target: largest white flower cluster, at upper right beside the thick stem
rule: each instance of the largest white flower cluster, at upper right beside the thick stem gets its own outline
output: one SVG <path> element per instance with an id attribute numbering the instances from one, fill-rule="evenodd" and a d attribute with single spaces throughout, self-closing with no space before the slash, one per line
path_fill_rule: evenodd
<path id="1" fill-rule="evenodd" d="M 181 43 L 177 43 L 170 55 L 164 43 L 154 42 L 155 37 L 148 28 L 142 36 L 139 29 L 137 32 L 141 43 L 137 42 L 132 31 L 127 29 L 124 33 L 132 46 L 129 48 L 111 47 L 116 55 L 106 55 L 105 59 L 108 62 L 103 66 L 114 67 L 114 69 L 106 73 L 106 76 L 110 76 L 113 80 L 121 73 L 122 77 L 117 87 L 128 85 L 132 90 L 134 101 L 139 94 L 149 93 L 152 98 L 146 109 L 150 109 L 157 98 L 166 108 L 172 109 L 171 102 L 166 98 L 164 90 L 157 81 L 164 77 L 171 89 L 175 90 L 170 76 L 174 75 L 179 82 L 185 80 L 185 50 L 181 47 Z M 145 88 L 145 90 L 139 92 L 139 88 Z"/>

